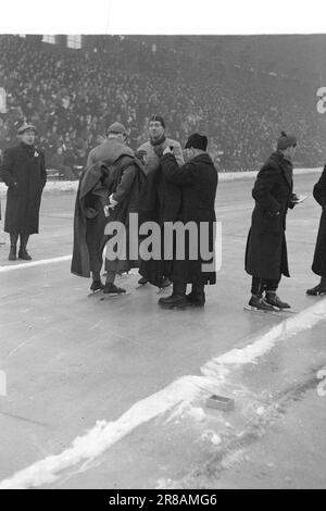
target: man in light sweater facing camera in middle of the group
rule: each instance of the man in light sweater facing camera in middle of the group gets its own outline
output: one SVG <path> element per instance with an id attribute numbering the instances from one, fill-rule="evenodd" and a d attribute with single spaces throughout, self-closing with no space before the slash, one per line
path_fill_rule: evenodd
<path id="1" fill-rule="evenodd" d="M 151 216 L 150 210 L 155 210 L 155 220 L 161 223 L 160 219 L 164 216 L 164 189 L 162 169 L 160 166 L 160 155 L 162 155 L 164 149 L 167 147 L 173 148 L 173 153 L 178 165 L 185 163 L 183 157 L 183 150 L 179 142 L 166 137 L 165 135 L 165 122 L 161 115 L 152 115 L 149 121 L 149 140 L 143 142 L 138 149 L 137 154 L 141 155 L 145 161 L 145 171 L 147 173 L 147 185 L 145 190 L 145 204 L 143 209 L 147 209 L 145 213 Z M 156 263 L 151 262 L 146 264 L 146 273 L 156 273 Z M 160 287 L 168 287 L 170 279 L 163 276 L 159 278 Z M 147 284 L 148 279 L 142 276 L 139 279 L 139 284 Z"/>

